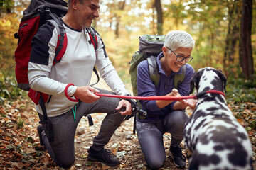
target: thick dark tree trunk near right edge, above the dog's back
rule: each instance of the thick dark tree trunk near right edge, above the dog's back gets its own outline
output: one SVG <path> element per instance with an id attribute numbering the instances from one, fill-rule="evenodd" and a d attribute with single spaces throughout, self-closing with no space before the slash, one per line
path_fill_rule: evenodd
<path id="1" fill-rule="evenodd" d="M 242 4 L 241 40 L 240 40 L 240 65 L 245 79 L 253 74 L 252 58 L 252 0 L 244 0 Z"/>

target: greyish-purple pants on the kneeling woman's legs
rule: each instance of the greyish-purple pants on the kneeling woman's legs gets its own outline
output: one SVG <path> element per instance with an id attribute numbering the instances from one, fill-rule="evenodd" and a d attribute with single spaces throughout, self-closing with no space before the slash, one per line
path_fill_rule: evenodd
<path id="1" fill-rule="evenodd" d="M 171 133 L 171 145 L 180 145 L 183 140 L 184 125 L 188 115 L 184 111 L 173 111 L 161 121 L 164 131 L 157 128 L 156 123 L 140 123 L 137 121 L 137 135 L 142 148 L 146 164 L 151 169 L 159 169 L 166 159 L 164 149 L 164 132 Z"/>

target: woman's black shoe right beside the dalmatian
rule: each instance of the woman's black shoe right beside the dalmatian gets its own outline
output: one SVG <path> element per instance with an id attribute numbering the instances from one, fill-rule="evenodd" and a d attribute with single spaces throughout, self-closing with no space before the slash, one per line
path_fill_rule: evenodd
<path id="1" fill-rule="evenodd" d="M 174 160 L 174 164 L 178 167 L 186 167 L 186 157 L 181 152 L 180 146 L 171 146 L 170 147 L 170 157 Z"/>

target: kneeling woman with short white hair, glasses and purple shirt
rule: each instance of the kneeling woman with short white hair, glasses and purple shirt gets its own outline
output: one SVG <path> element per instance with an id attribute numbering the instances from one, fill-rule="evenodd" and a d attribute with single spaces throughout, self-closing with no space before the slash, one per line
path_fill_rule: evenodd
<path id="1" fill-rule="evenodd" d="M 185 31 L 173 30 L 166 35 L 162 52 L 157 57 L 160 81 L 157 86 L 149 77 L 149 67 L 146 60 L 139 63 L 137 68 L 138 96 L 188 96 L 193 67 L 190 62 L 191 51 L 195 41 Z M 186 67 L 186 74 L 174 89 L 174 75 L 181 74 Z M 188 115 L 184 109 L 195 107 L 196 101 L 141 101 L 142 108 L 147 111 L 146 118 L 137 118 L 137 135 L 146 163 L 151 169 L 159 169 L 165 161 L 163 135 L 171 133 L 171 157 L 179 167 L 186 166 L 186 157 L 179 146 L 183 140 L 183 129 Z"/>

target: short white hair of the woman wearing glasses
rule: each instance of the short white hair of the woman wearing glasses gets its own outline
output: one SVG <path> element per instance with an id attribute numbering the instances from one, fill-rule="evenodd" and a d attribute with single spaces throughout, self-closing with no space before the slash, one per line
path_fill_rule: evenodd
<path id="1" fill-rule="evenodd" d="M 172 30 L 166 35 L 164 40 L 164 47 L 169 47 L 175 51 L 178 47 L 191 48 L 195 46 L 195 40 L 192 36 L 184 30 Z"/>

